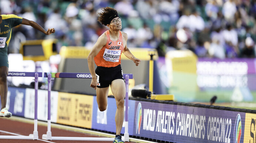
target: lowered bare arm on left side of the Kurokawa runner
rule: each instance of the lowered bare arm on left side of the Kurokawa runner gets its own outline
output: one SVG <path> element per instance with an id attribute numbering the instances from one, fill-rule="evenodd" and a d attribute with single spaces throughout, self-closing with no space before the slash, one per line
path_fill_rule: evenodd
<path id="1" fill-rule="evenodd" d="M 90 70 L 90 73 L 92 75 L 92 81 L 91 81 L 91 87 L 94 88 L 96 90 L 97 87 L 97 78 L 96 78 L 96 73 L 95 73 L 95 69 L 94 69 L 94 57 L 96 55 L 98 55 L 99 51 L 102 49 L 103 46 L 106 45 L 107 42 L 107 36 L 106 34 L 102 34 L 101 36 L 99 36 L 97 42 L 95 43 L 95 45 L 92 47 L 91 52 L 88 55 L 87 61 L 88 61 L 88 67 Z"/>

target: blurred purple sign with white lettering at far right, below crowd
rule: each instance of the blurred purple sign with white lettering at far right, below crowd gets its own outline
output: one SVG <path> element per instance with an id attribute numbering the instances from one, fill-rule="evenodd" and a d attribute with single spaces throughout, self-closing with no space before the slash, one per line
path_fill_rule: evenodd
<path id="1" fill-rule="evenodd" d="M 197 85 L 203 88 L 256 90 L 255 59 L 204 59 L 197 62 Z"/>

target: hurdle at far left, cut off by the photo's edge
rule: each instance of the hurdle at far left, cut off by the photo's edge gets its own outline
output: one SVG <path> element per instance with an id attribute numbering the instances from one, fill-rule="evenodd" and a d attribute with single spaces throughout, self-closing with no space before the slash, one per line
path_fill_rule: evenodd
<path id="1" fill-rule="evenodd" d="M 37 131 L 37 93 L 38 93 L 38 77 L 42 76 L 42 73 L 36 73 L 36 72 L 9 72 L 8 76 L 35 77 L 35 118 L 34 118 L 34 131 L 33 131 L 33 134 L 29 134 L 29 136 L 0 136 L 0 139 L 38 140 L 38 131 Z"/>

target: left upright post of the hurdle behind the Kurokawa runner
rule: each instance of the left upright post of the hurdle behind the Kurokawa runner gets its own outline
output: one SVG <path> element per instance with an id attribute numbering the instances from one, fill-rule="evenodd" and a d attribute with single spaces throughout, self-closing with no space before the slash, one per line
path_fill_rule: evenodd
<path id="1" fill-rule="evenodd" d="M 51 90 L 52 90 L 52 74 L 48 74 L 48 119 L 47 119 L 47 132 L 43 134 L 42 139 L 52 140 L 51 132 Z"/>

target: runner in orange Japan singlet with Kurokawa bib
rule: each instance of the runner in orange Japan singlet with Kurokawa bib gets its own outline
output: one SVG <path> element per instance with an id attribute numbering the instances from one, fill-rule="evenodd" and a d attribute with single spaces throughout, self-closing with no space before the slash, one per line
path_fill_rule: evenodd
<path id="1" fill-rule="evenodd" d="M 99 36 L 88 55 L 88 67 L 92 74 L 91 87 L 96 90 L 96 99 L 100 111 L 105 111 L 108 104 L 109 85 L 116 100 L 116 136 L 113 143 L 124 143 L 121 139 L 121 129 L 124 121 L 125 83 L 121 69 L 121 54 L 124 53 L 138 66 L 141 60 L 132 55 L 127 48 L 127 34 L 120 31 L 121 18 L 111 7 L 102 8 L 98 21 L 109 28 Z M 94 70 L 94 61 L 97 65 Z"/>

